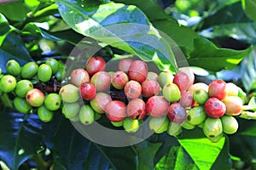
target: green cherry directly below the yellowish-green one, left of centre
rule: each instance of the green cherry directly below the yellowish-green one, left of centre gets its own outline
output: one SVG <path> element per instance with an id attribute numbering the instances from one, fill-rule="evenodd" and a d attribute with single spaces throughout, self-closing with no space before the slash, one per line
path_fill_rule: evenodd
<path id="1" fill-rule="evenodd" d="M 62 114 L 67 119 L 72 119 L 79 114 L 80 105 L 79 103 L 65 103 L 62 107 Z"/>

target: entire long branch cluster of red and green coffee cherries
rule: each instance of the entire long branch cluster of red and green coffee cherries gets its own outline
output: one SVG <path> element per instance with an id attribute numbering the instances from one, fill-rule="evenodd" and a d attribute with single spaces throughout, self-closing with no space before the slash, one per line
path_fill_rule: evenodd
<path id="1" fill-rule="evenodd" d="M 143 60 L 120 59 L 118 71 L 106 71 L 100 56 L 74 69 L 60 86 L 64 66 L 55 59 L 20 67 L 14 59 L 6 64 L 0 92 L 15 94 L 14 105 L 21 113 L 37 109 L 39 118 L 49 122 L 54 111 L 73 122 L 90 125 L 102 115 L 115 127 L 136 133 L 143 122 L 154 133 L 177 136 L 182 128 L 202 127 L 212 142 L 223 133 L 236 133 L 241 114 L 241 88 L 234 83 L 214 80 L 209 85 L 195 82 L 193 72 L 181 68 L 175 76 L 169 71 L 148 71 Z"/>

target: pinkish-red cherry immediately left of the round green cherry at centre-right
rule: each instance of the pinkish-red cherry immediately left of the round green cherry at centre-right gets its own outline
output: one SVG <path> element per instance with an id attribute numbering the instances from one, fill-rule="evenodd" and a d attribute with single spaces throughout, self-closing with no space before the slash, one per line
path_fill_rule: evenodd
<path id="1" fill-rule="evenodd" d="M 157 95 L 160 92 L 160 84 L 154 80 L 145 80 L 142 83 L 142 94 L 143 97 L 149 98 Z"/>

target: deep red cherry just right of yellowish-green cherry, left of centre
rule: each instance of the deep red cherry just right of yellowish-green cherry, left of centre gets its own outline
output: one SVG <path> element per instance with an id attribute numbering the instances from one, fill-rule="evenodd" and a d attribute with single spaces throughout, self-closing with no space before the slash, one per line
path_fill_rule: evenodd
<path id="1" fill-rule="evenodd" d="M 94 99 L 96 96 L 96 88 L 91 82 L 82 82 L 80 84 L 79 94 L 85 100 Z"/>

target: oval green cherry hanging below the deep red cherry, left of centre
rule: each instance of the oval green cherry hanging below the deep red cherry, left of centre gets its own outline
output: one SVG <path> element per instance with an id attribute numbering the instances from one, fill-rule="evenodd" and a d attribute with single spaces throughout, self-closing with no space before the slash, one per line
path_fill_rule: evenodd
<path id="1" fill-rule="evenodd" d="M 84 125 L 90 125 L 94 122 L 95 113 L 90 105 L 83 105 L 79 111 L 79 119 Z"/>

